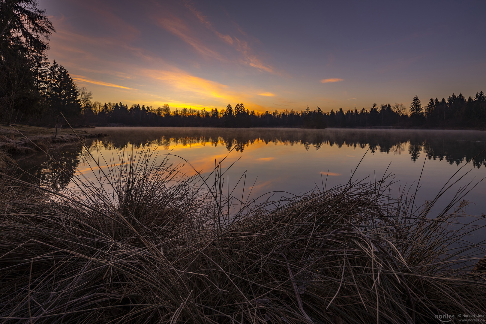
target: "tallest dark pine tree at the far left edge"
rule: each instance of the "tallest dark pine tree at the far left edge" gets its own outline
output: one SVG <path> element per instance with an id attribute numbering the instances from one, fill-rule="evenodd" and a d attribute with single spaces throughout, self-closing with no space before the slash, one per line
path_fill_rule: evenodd
<path id="1" fill-rule="evenodd" d="M 36 0 L 0 0 L 0 114 L 7 122 L 14 113 L 32 115 L 40 107 L 36 56 L 48 49 L 54 28 L 37 5 Z"/>

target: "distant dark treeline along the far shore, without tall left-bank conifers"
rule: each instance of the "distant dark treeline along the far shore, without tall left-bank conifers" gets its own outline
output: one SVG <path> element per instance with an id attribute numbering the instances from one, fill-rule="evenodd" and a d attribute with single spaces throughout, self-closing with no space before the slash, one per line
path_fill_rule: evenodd
<path id="1" fill-rule="evenodd" d="M 96 126 L 122 124 L 132 126 L 179 126 L 179 127 L 271 127 L 290 126 L 304 128 L 367 127 L 367 126 L 422 126 L 422 127 L 479 127 L 486 125 L 486 97 L 481 91 L 474 98 L 459 93 L 447 100 L 431 99 L 425 106 L 417 96 L 408 107 L 402 103 L 375 103 L 369 110 L 362 108 L 323 112 L 317 107 L 311 110 L 284 110 L 256 113 L 246 109 L 243 103 L 233 108 L 196 110 L 183 108 L 171 110 L 168 104 L 153 108 L 133 104 L 89 102 L 83 107 L 78 123 Z"/>

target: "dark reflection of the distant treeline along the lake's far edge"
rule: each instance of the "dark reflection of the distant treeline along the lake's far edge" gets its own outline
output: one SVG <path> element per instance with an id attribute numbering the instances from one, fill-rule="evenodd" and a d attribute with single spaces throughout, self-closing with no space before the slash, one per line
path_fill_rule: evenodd
<path id="1" fill-rule="evenodd" d="M 228 129 L 228 128 L 148 128 L 134 129 L 134 132 L 114 129 L 113 138 L 104 139 L 94 146 L 105 149 L 121 149 L 128 145 L 137 148 L 158 145 L 169 149 L 172 145 L 212 145 L 221 144 L 228 151 L 244 148 L 257 142 L 302 145 L 306 150 L 311 146 L 319 150 L 324 145 L 360 147 L 368 146 L 371 153 L 400 153 L 408 151 L 416 161 L 421 152 L 429 159 L 445 159 L 449 163 L 460 164 L 473 159 L 479 168 L 486 165 L 486 154 L 476 156 L 486 148 L 486 134 L 482 132 L 426 131 L 426 130 L 369 130 L 369 129 Z M 95 147 L 93 147 L 94 149 Z"/>

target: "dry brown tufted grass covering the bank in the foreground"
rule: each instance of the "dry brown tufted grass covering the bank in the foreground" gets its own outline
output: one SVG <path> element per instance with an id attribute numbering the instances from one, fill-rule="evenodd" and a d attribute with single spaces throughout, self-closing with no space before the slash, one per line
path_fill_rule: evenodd
<path id="1" fill-rule="evenodd" d="M 485 268 L 474 256 L 485 246 L 467 242 L 474 225 L 458 226 L 464 204 L 430 215 L 413 197 L 390 197 L 389 178 L 256 204 L 225 197 L 219 168 L 204 183 L 149 153 L 124 162 L 99 179 L 111 186 L 83 180 L 66 194 L 1 178 L 3 323 L 484 314 Z"/>

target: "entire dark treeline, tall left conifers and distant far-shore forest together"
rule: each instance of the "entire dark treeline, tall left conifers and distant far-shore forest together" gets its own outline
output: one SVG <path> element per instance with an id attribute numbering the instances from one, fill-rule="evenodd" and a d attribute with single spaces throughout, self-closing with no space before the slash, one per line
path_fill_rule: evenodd
<path id="1" fill-rule="evenodd" d="M 92 94 L 78 88 L 68 71 L 46 56 L 54 32 L 45 10 L 35 0 L 0 1 L 0 123 L 52 126 L 59 112 L 72 124 L 103 126 L 185 127 L 486 127 L 486 97 L 477 92 L 466 99 L 461 93 L 430 99 L 422 105 L 416 96 L 409 107 L 402 103 L 373 104 L 369 109 L 321 108 L 257 113 L 243 103 L 220 110 L 171 110 L 133 104 L 91 102 Z M 408 108 L 408 109 L 407 109 Z M 407 112 L 408 110 L 408 112 Z"/>

